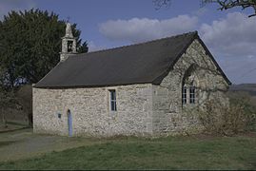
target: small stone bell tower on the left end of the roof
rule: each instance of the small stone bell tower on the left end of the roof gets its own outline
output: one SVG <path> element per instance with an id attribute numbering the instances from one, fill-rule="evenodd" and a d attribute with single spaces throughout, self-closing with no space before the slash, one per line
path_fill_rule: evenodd
<path id="1" fill-rule="evenodd" d="M 76 39 L 72 34 L 71 24 L 66 24 L 66 34 L 62 37 L 62 50 L 60 52 L 60 62 L 69 58 L 69 56 L 76 54 Z"/>

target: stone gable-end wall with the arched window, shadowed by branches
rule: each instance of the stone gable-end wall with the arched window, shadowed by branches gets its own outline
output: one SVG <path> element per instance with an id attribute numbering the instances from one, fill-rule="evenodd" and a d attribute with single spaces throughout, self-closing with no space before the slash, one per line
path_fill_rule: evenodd
<path id="1" fill-rule="evenodd" d="M 196 64 L 196 65 L 195 65 Z M 194 65 L 187 74 L 189 66 Z M 187 74 L 187 75 L 186 75 Z M 182 104 L 182 86 L 185 77 L 196 86 L 195 104 Z M 155 134 L 186 134 L 202 130 L 197 111 L 209 99 L 227 103 L 228 85 L 204 47 L 195 40 L 182 55 L 161 85 L 153 85 L 153 132 Z"/>

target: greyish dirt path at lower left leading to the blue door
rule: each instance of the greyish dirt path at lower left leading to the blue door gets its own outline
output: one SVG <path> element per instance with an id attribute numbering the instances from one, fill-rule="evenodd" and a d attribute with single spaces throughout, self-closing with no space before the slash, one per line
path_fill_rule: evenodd
<path id="1" fill-rule="evenodd" d="M 0 133 L 0 161 L 25 159 L 97 142 L 100 141 L 33 134 L 32 129 Z"/>

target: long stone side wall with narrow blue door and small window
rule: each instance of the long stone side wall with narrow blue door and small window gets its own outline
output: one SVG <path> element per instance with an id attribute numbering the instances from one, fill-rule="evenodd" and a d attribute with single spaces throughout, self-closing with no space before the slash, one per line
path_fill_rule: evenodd
<path id="1" fill-rule="evenodd" d="M 109 91 L 116 90 L 117 111 L 109 111 Z M 152 134 L 152 85 L 44 89 L 33 87 L 35 133 L 74 136 Z M 58 118 L 61 114 L 61 118 Z"/>

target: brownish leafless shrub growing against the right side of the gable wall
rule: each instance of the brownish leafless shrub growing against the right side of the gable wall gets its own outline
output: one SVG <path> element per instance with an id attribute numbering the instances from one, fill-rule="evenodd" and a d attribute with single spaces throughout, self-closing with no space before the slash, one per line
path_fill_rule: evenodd
<path id="1" fill-rule="evenodd" d="M 229 96 L 229 105 L 208 101 L 200 110 L 199 119 L 207 133 L 231 136 L 255 130 L 255 111 L 248 96 Z"/>

